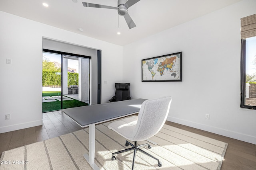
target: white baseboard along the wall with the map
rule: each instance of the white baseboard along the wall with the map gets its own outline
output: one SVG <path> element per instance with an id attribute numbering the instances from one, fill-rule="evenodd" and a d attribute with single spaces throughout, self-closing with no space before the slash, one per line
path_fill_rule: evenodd
<path id="1" fill-rule="evenodd" d="M 244 142 L 248 142 L 248 143 L 252 143 L 254 145 L 256 145 L 256 137 L 255 136 L 251 136 L 251 135 L 246 135 L 246 134 L 242 134 L 242 133 L 238 133 L 235 131 L 229 131 L 226 129 L 222 129 L 222 128 L 218 128 L 218 127 L 213 127 L 213 126 L 209 126 L 209 125 L 204 125 L 201 123 L 196 123 L 196 122 L 192 122 L 192 121 L 187 121 L 184 119 L 178 119 L 176 117 L 167 117 L 168 121 L 174 122 L 174 123 L 178 123 L 181 125 L 186 125 L 189 127 L 194 127 L 196 129 L 200 129 L 203 131 L 208 131 L 211 133 L 215 133 L 218 135 L 222 135 L 222 136 L 226 136 L 226 137 L 230 137 L 233 139 L 237 139 L 240 141 L 244 141 Z"/>

